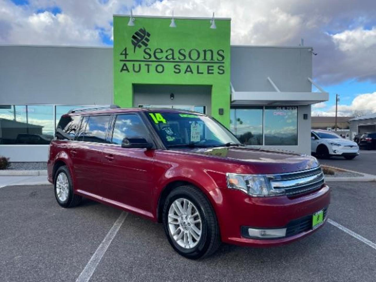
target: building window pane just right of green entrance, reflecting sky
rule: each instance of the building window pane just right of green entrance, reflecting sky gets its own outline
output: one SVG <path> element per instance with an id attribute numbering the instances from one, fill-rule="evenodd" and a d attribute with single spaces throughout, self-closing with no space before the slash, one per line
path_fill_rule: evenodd
<path id="1" fill-rule="evenodd" d="M 262 145 L 262 107 L 231 109 L 230 130 L 242 144 Z"/>

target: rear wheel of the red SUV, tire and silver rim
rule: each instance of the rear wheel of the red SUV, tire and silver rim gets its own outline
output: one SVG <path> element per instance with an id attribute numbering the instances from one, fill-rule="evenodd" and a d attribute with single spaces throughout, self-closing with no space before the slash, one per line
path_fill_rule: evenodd
<path id="1" fill-rule="evenodd" d="M 81 202 L 82 197 L 73 193 L 73 181 L 68 168 L 58 168 L 54 181 L 55 198 L 63 208 L 73 208 Z"/>

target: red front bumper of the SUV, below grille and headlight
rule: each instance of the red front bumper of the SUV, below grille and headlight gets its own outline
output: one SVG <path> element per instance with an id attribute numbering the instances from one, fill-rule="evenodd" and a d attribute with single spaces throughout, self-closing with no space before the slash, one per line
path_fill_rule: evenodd
<path id="1" fill-rule="evenodd" d="M 219 189 L 219 188 L 218 188 Z M 288 197 L 250 197 L 241 191 L 220 189 L 211 191 L 211 194 L 220 193 L 222 205 L 217 208 L 221 238 L 225 243 L 241 246 L 266 247 L 287 244 L 305 237 L 320 229 L 323 224 L 312 229 L 302 228 L 288 232 L 285 237 L 276 239 L 247 238 L 242 228 L 254 227 L 259 229 L 278 229 L 291 225 L 297 220 L 310 217 L 315 212 L 325 209 L 330 203 L 330 190 L 327 185 L 319 190 L 304 195 Z M 215 195 L 214 195 L 215 196 Z M 324 217 L 324 223 L 327 217 Z M 311 224 L 312 221 L 310 221 Z"/>

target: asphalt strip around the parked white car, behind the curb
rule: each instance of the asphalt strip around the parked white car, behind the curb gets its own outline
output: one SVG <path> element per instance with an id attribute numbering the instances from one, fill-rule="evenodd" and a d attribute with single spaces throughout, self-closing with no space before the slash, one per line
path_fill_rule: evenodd
<path id="1" fill-rule="evenodd" d="M 376 150 L 360 150 L 360 155 L 352 160 L 332 156 L 329 159 L 320 159 L 319 161 L 320 164 L 332 165 L 334 167 L 368 174 L 376 174 Z"/>

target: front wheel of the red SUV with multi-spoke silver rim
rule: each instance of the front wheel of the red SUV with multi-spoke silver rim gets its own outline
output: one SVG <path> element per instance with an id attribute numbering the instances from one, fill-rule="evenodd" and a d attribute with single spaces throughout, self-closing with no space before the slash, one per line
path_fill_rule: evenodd
<path id="1" fill-rule="evenodd" d="M 177 206 L 179 203 L 182 209 Z M 194 214 L 198 215 L 194 216 Z M 209 256 L 221 244 L 214 209 L 205 195 L 193 185 L 179 186 L 171 191 L 165 200 L 162 217 L 164 230 L 171 246 L 188 259 Z M 197 223 L 199 220 L 200 223 Z M 193 227 L 200 230 L 200 235 Z M 177 232 L 175 235 L 173 235 L 174 230 L 175 233 Z"/>

